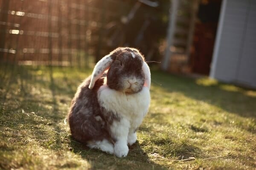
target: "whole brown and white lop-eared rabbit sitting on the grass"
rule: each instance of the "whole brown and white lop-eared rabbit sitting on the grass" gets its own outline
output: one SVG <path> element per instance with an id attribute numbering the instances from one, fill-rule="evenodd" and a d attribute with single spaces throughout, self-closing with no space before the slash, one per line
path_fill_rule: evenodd
<path id="1" fill-rule="evenodd" d="M 117 157 L 128 154 L 150 105 L 150 69 L 135 48 L 103 57 L 78 87 L 68 114 L 71 136 Z"/>

